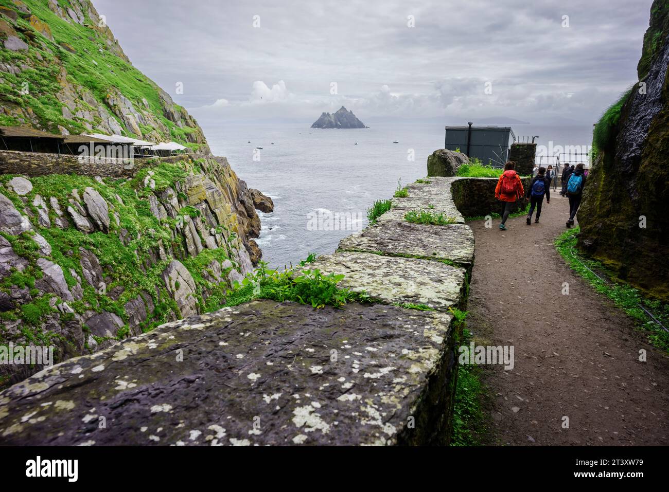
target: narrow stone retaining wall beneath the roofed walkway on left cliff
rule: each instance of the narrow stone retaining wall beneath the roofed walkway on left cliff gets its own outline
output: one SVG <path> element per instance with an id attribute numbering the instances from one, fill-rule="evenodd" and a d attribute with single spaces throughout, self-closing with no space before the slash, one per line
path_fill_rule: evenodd
<path id="1" fill-rule="evenodd" d="M 205 157 L 205 154 L 201 154 Z M 94 162 L 80 160 L 70 154 L 46 154 L 42 152 L 18 152 L 0 150 L 0 174 L 23 174 L 24 176 L 48 176 L 50 174 L 78 174 L 80 176 L 102 176 L 109 178 L 131 178 L 140 169 L 155 166 L 158 162 L 179 162 L 197 158 L 197 154 L 169 157 L 135 158 L 131 161 L 98 159 Z"/>

